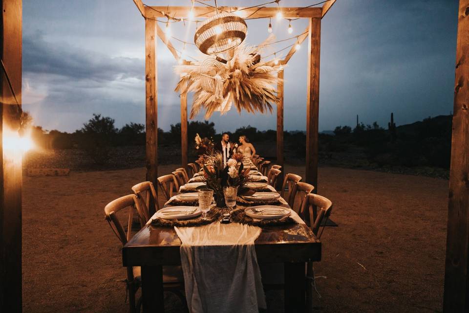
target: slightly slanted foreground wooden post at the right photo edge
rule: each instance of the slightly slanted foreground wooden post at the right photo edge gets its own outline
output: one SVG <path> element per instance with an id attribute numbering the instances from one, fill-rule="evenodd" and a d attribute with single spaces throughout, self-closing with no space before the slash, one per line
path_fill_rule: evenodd
<path id="1" fill-rule="evenodd" d="M 469 0 L 459 1 L 444 312 L 469 311 Z"/>

